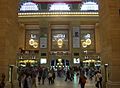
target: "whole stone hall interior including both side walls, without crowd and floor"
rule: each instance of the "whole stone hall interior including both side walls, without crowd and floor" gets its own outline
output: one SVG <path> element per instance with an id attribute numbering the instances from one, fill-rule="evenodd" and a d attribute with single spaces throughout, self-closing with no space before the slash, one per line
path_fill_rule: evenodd
<path id="1" fill-rule="evenodd" d="M 120 88 L 120 0 L 1 0 L 0 10 L 5 88 L 19 88 L 18 68 L 28 64 L 99 68 L 103 88 Z"/>

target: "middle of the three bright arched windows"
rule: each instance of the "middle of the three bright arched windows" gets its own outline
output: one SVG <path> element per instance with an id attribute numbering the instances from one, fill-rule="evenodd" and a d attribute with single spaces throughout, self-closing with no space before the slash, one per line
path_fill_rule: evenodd
<path id="1" fill-rule="evenodd" d="M 62 10 L 62 11 L 69 11 L 70 7 L 66 3 L 54 3 L 51 4 L 49 11 L 55 11 L 55 10 Z"/>

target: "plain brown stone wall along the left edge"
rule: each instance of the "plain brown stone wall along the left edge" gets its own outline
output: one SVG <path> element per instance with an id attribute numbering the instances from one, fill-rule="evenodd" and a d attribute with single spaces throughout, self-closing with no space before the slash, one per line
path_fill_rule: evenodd
<path id="1" fill-rule="evenodd" d="M 0 74 L 8 81 L 8 67 L 16 64 L 18 0 L 0 0 Z M 13 79 L 15 76 L 13 77 Z"/>

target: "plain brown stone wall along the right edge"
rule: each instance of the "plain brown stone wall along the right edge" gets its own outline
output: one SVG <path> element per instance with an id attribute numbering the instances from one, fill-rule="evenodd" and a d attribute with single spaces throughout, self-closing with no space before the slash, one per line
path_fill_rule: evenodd
<path id="1" fill-rule="evenodd" d="M 107 87 L 120 88 L 120 0 L 100 0 L 102 61 L 108 64 Z"/>

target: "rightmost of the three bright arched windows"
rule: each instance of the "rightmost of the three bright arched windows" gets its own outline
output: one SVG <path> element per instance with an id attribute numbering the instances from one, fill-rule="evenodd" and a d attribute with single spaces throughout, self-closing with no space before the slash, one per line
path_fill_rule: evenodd
<path id="1" fill-rule="evenodd" d="M 83 3 L 83 5 L 81 6 L 81 11 L 89 11 L 89 10 L 98 10 L 98 4 L 95 2 L 85 2 Z"/>

